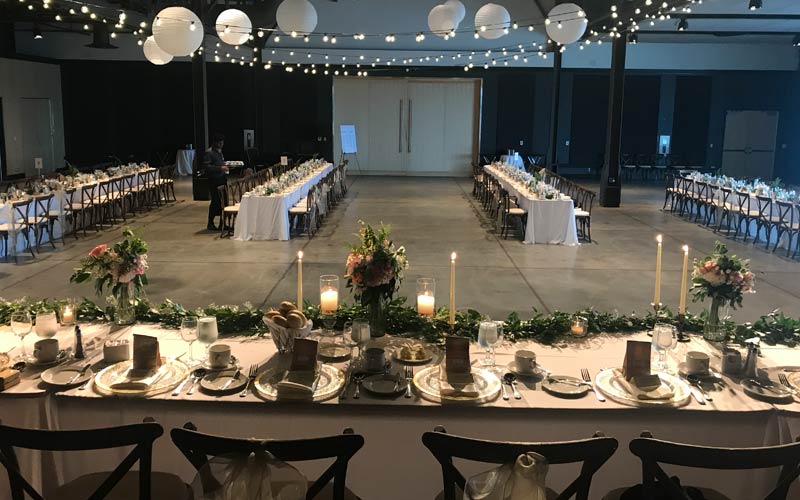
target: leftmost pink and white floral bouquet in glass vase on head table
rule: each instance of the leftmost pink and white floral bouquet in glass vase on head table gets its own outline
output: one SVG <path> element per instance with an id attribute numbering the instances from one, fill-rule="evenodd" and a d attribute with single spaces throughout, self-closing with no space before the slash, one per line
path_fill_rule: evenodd
<path id="1" fill-rule="evenodd" d="M 97 295 L 109 289 L 116 299 L 117 323 L 130 324 L 135 320 L 136 299 L 147 284 L 147 243 L 129 228 L 122 231 L 123 240 L 113 246 L 98 245 L 81 259 L 69 280 L 86 283 L 94 279 Z"/>

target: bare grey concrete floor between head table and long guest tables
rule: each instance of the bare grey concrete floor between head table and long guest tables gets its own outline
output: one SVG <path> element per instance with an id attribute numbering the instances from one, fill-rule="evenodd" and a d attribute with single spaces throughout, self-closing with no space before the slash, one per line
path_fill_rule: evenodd
<path id="1" fill-rule="evenodd" d="M 419 277 L 437 280 L 437 305 L 448 297 L 449 255 L 458 252 L 457 305 L 504 318 L 540 311 L 593 306 L 601 310 L 645 312 L 653 295 L 655 235 L 664 234 L 662 300 L 677 309 L 680 247 L 691 257 L 714 248 L 712 231 L 660 211 L 663 188 L 631 186 L 623 207 L 593 213 L 593 243 L 570 248 L 503 241 L 472 198 L 470 179 L 351 177 L 342 203 L 311 240 L 237 242 L 205 231 L 207 202 L 191 201 L 191 186 L 178 183 L 177 204 L 130 221 L 150 245 L 147 287 L 152 301 L 171 298 L 186 306 L 209 303 L 274 305 L 295 297 L 298 250 L 305 252 L 305 296 L 313 299 L 320 274 L 343 274 L 347 243 L 355 242 L 357 221 L 391 224 L 394 241 L 405 245 L 411 267 L 401 294 L 414 295 Z M 118 239 L 119 228 L 90 233 L 57 250 L 43 248 L 35 260 L 0 262 L 0 295 L 7 299 L 93 295 L 90 285 L 69 283 L 77 260 L 93 246 Z M 800 316 L 800 263 L 727 240 L 729 248 L 752 259 L 755 295 L 733 312 L 749 321 L 775 308 Z M 344 286 L 344 282 L 342 282 Z M 347 297 L 346 291 L 342 294 Z M 699 312 L 700 304 L 689 309 Z"/>

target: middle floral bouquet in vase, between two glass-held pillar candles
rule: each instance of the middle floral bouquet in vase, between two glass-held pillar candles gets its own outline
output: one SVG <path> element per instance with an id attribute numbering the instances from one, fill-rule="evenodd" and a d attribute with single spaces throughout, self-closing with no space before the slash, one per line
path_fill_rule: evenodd
<path id="1" fill-rule="evenodd" d="M 375 231 L 364 221 L 359 223 L 361 242 L 350 247 L 344 277 L 356 300 L 369 310 L 372 335 L 380 336 L 385 333 L 386 307 L 400 288 L 408 258 L 405 248 L 395 248 L 389 239 L 388 227 L 381 225 Z"/>

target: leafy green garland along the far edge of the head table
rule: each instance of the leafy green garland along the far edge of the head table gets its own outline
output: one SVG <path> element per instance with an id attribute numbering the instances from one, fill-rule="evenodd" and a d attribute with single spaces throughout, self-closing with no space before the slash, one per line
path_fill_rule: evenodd
<path id="1" fill-rule="evenodd" d="M 28 311 L 31 315 L 45 311 L 58 312 L 67 302 L 67 300 L 28 297 L 13 301 L 0 298 L 0 323 L 9 324 L 11 314 L 16 311 Z M 402 336 L 432 343 L 441 343 L 444 336 L 450 334 L 447 308 L 439 308 L 432 319 L 425 319 L 405 303 L 406 299 L 400 297 L 389 304 L 388 331 L 400 332 Z M 77 318 L 80 321 L 111 321 L 114 318 L 113 305 L 103 308 L 84 298 L 76 306 Z M 319 306 L 306 302 L 303 311 L 315 324 L 320 324 Z M 353 318 L 365 318 L 365 313 L 365 309 L 360 305 L 339 306 L 335 314 L 336 328 L 341 329 Z M 137 320 L 144 323 L 158 323 L 167 328 L 180 327 L 181 321 L 186 317 L 216 316 L 221 335 L 263 335 L 269 331 L 262 320 L 263 315 L 264 311 L 249 303 L 242 306 L 211 304 L 195 310 L 186 309 L 169 299 L 158 305 L 151 304 L 147 299 L 139 299 L 136 304 Z M 522 319 L 516 312 L 509 314 L 503 326 L 503 335 L 511 341 L 533 340 L 547 345 L 563 343 L 575 339 L 569 333 L 572 318 L 575 316 L 584 317 L 588 321 L 587 337 L 593 334 L 624 335 L 650 330 L 658 322 L 672 324 L 684 333 L 700 334 L 703 331 L 706 312 L 703 311 L 699 315 L 687 312 L 685 316 L 680 317 L 666 308 L 660 310 L 658 314 L 648 312 L 646 316 L 637 316 L 635 313 L 624 315 L 601 312 L 594 309 L 583 309 L 572 314 L 561 311 L 544 314 L 533 309 L 533 316 L 530 319 Z M 478 324 L 481 319 L 483 319 L 481 313 L 474 309 L 459 310 L 456 312 L 453 333 L 477 339 Z M 760 337 L 767 345 L 796 347 L 800 344 L 800 319 L 787 317 L 779 310 L 761 316 L 754 323 L 737 324 L 726 319 L 724 326 L 728 331 L 728 338 L 739 344 L 752 337 Z"/>

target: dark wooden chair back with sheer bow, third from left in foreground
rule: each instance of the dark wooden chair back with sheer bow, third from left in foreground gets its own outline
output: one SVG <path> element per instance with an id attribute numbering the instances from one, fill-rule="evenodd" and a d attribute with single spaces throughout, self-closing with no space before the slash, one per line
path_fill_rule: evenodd
<path id="1" fill-rule="evenodd" d="M 552 443 L 503 442 L 472 439 L 447 434 L 443 427 L 422 435 L 422 443 L 431 451 L 442 467 L 444 499 L 456 500 L 456 486 L 462 491 L 466 478 L 453 465 L 454 458 L 490 464 L 514 463 L 518 456 L 529 451 L 538 453 L 550 465 L 582 463 L 581 472 L 555 500 L 588 500 L 589 488 L 595 472 L 602 467 L 617 450 L 614 438 L 596 433 L 591 439 Z"/>

